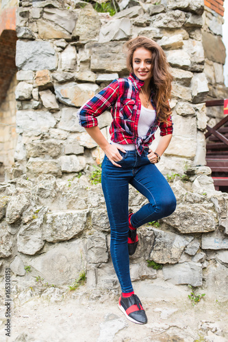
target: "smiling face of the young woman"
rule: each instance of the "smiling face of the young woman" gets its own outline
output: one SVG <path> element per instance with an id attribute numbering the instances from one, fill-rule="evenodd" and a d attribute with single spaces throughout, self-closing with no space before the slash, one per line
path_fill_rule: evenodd
<path id="1" fill-rule="evenodd" d="M 134 51 L 132 57 L 132 66 L 135 75 L 141 81 L 150 81 L 152 74 L 152 52 L 139 47 Z"/>

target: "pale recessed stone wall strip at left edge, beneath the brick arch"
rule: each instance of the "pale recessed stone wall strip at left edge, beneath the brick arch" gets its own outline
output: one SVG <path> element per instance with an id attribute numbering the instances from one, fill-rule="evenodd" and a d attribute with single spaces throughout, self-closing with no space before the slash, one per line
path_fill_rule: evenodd
<path id="1" fill-rule="evenodd" d="M 5 101 L 0 105 L 0 122 L 3 124 L 16 124 L 16 100 L 15 89 L 17 81 L 14 75 Z M 16 149 L 17 134 L 16 128 L 0 124 L 0 174 L 3 175 L 4 168 L 11 168 L 14 164 L 14 153 Z"/>

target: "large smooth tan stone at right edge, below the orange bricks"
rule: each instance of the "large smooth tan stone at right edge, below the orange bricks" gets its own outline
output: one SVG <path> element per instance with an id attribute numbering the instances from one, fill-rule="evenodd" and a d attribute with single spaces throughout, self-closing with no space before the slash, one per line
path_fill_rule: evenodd
<path id="1" fill-rule="evenodd" d="M 214 49 L 214 47 L 216 47 L 216 49 Z M 208 58 L 208 60 L 212 60 L 213 62 L 225 64 L 226 53 L 222 38 L 203 31 L 203 48 L 205 58 Z"/>

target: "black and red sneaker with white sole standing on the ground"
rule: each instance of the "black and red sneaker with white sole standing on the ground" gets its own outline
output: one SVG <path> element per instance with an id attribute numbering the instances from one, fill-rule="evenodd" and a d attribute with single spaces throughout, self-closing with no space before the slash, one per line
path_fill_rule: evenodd
<path id="1" fill-rule="evenodd" d="M 138 298 L 138 295 L 131 295 L 131 297 L 123 297 L 121 293 L 121 297 L 118 300 L 118 307 L 125 314 L 129 321 L 133 321 L 137 324 L 146 324 L 147 323 L 147 315 L 142 308 L 142 303 Z"/>

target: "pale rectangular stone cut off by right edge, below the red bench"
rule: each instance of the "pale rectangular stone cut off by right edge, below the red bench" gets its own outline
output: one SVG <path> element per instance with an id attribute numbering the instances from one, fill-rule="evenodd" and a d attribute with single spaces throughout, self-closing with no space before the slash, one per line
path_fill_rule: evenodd
<path id="1" fill-rule="evenodd" d="M 203 250 L 227 250 L 228 238 L 220 231 L 202 235 Z"/>

